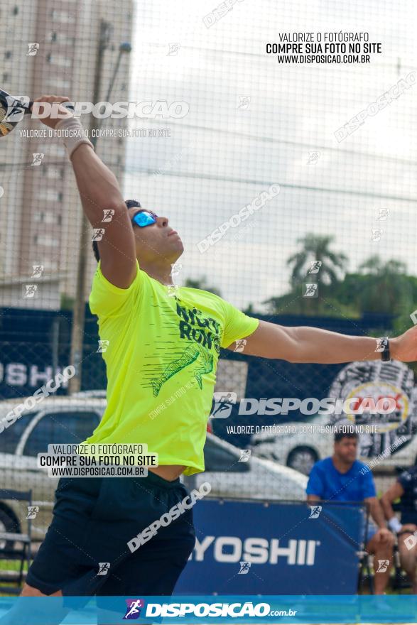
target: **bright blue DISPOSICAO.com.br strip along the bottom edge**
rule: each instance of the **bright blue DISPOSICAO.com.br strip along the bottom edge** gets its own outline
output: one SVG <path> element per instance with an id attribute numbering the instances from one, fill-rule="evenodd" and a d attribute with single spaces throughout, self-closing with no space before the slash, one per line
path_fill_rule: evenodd
<path id="1" fill-rule="evenodd" d="M 0 624 L 413 624 L 417 597 L 0 597 Z"/>

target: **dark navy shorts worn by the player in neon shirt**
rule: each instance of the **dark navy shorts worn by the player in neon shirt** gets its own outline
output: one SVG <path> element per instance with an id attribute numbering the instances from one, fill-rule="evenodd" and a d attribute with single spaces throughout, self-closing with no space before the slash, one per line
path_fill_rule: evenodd
<path id="1" fill-rule="evenodd" d="M 26 582 L 63 595 L 170 595 L 195 544 L 192 509 L 158 528 L 132 552 L 128 542 L 186 496 L 148 477 L 61 478 L 53 521 Z"/>

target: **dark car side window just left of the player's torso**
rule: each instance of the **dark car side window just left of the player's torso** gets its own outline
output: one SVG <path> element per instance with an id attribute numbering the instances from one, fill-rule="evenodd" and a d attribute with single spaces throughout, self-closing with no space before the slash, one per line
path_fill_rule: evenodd
<path id="1" fill-rule="evenodd" d="M 97 413 L 67 411 L 48 413 L 35 425 L 23 449 L 24 456 L 36 456 L 48 451 L 48 445 L 72 443 L 77 445 L 92 434 L 99 424 Z"/>

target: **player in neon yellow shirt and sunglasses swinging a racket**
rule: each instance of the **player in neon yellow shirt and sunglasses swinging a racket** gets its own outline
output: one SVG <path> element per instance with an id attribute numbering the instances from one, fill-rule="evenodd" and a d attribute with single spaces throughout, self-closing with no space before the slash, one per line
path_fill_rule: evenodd
<path id="1" fill-rule="evenodd" d="M 220 348 L 233 351 L 239 341 L 242 351 L 243 341 L 244 354 L 317 363 L 389 359 L 391 349 L 392 358 L 411 362 L 417 359 L 417 328 L 390 342 L 286 328 L 244 315 L 207 291 L 175 288 L 171 267 L 183 243 L 168 217 L 124 202 L 116 178 L 70 112 L 42 121 L 68 131 L 63 141 L 83 210 L 94 232 L 104 231 L 94 245 L 99 262 L 90 308 L 107 347 L 107 409 L 87 442 L 145 444 L 158 454 L 158 467 L 139 479 L 61 479 L 53 521 L 22 594 L 169 595 L 195 543 L 192 510 L 184 508 L 189 494 L 179 477 L 204 470 Z M 103 224 L 104 213 L 112 219 Z M 173 509 L 180 513 L 172 522 L 129 548 Z M 106 575 L 98 575 L 103 563 Z"/>

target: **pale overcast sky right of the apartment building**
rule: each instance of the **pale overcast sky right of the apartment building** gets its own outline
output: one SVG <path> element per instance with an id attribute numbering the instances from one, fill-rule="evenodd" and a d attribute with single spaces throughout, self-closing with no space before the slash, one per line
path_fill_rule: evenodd
<path id="1" fill-rule="evenodd" d="M 243 0 L 206 28 L 202 18 L 217 4 L 136 2 L 131 99 L 184 100 L 190 112 L 139 121 L 169 127 L 171 137 L 127 140 L 124 195 L 166 214 L 180 232 L 178 283 L 205 275 L 225 299 L 261 309 L 261 301 L 288 290 L 286 259 L 307 232 L 334 235 L 333 249 L 349 256 L 351 270 L 379 254 L 405 261 L 417 275 L 417 82 L 345 141 L 334 135 L 417 70 L 415 3 Z M 364 65 L 280 65 L 264 53 L 280 32 L 341 30 L 369 32 L 383 53 Z M 168 55 L 169 43 L 180 44 L 177 55 Z M 242 95 L 250 98 L 247 110 L 237 109 Z M 308 163 L 313 151 L 320 158 Z M 166 173 L 146 173 L 158 169 Z M 281 193 L 256 214 L 254 227 L 200 254 L 197 242 L 270 183 Z M 386 222 L 376 221 L 380 208 L 390 211 Z M 372 242 L 378 227 L 381 241 Z"/>

